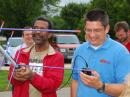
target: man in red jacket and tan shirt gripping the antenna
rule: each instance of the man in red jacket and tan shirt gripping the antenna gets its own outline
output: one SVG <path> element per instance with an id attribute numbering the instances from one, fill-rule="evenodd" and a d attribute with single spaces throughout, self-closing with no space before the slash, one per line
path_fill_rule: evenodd
<path id="1" fill-rule="evenodd" d="M 39 17 L 34 21 L 33 28 L 51 29 L 52 25 L 49 20 Z M 15 56 L 17 64 L 30 66 L 15 69 L 11 79 L 13 97 L 57 97 L 56 90 L 64 76 L 64 57 L 50 45 L 48 39 L 51 33 L 33 31 L 32 37 L 35 44 L 17 51 Z M 14 65 L 11 65 L 9 79 L 13 68 Z"/>

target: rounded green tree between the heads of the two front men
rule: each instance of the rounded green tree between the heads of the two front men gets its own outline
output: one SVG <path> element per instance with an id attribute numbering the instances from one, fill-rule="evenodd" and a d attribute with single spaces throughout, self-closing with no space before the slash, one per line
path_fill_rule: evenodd
<path id="1" fill-rule="evenodd" d="M 61 17 L 67 29 L 77 29 L 77 25 L 86 11 L 86 4 L 69 3 L 61 10 Z"/>

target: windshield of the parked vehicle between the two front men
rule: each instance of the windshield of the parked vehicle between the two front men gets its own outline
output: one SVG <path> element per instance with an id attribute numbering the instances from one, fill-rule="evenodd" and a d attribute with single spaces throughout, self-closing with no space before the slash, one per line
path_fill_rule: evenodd
<path id="1" fill-rule="evenodd" d="M 75 35 L 57 36 L 57 43 L 61 43 L 61 44 L 79 44 L 79 40 Z"/>

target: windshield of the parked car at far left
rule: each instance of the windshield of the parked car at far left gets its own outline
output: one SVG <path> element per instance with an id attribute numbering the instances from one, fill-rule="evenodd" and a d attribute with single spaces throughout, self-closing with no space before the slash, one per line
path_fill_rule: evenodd
<path id="1" fill-rule="evenodd" d="M 22 38 L 10 38 L 9 39 L 9 45 L 11 47 L 16 47 L 16 46 L 18 46 L 18 45 L 20 45 L 22 43 L 23 43 Z"/>

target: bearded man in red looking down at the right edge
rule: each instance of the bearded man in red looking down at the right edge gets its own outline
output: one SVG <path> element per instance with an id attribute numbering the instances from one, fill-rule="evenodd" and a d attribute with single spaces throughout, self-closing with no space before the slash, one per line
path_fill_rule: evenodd
<path id="1" fill-rule="evenodd" d="M 117 22 L 114 26 L 117 41 L 122 43 L 130 52 L 129 24 L 126 21 Z"/>

